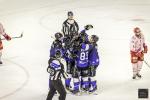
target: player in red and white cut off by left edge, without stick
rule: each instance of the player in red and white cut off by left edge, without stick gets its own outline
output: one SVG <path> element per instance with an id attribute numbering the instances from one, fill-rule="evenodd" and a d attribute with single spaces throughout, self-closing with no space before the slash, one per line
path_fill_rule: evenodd
<path id="1" fill-rule="evenodd" d="M 0 23 L 0 64 L 2 64 L 1 57 L 2 57 L 2 50 L 3 50 L 3 44 L 2 44 L 2 41 L 1 41 L 1 35 L 3 35 L 6 40 L 8 40 L 8 41 L 11 40 L 11 37 L 5 33 L 3 25 Z"/>

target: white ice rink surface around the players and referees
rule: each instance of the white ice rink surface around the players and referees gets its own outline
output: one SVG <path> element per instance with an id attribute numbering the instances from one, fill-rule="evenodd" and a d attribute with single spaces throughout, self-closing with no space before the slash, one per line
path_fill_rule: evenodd
<path id="1" fill-rule="evenodd" d="M 61 31 L 67 11 L 73 11 L 80 30 L 86 24 L 97 34 L 101 65 L 99 95 L 67 95 L 66 100 L 138 100 L 138 89 L 150 89 L 150 68 L 143 65 L 140 80 L 132 80 L 129 42 L 141 28 L 150 47 L 150 0 L 0 0 L 0 22 L 11 36 L 3 41 L 0 100 L 45 100 L 51 36 Z M 145 60 L 150 63 L 150 49 Z M 57 100 L 58 96 L 54 97 Z"/>

